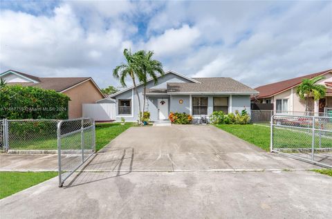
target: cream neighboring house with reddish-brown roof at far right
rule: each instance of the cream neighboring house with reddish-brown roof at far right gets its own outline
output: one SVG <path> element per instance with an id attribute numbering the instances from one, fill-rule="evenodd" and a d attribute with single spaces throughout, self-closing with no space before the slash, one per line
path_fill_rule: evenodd
<path id="1" fill-rule="evenodd" d="M 325 107 L 332 108 L 332 69 L 259 86 L 255 88 L 256 91 L 259 91 L 259 95 L 253 97 L 253 99 L 262 104 L 274 104 L 274 111 L 277 112 L 304 112 L 306 111 L 306 102 L 297 95 L 297 87 L 303 79 L 312 79 L 317 76 L 324 76 L 324 79 L 317 82 L 317 84 L 326 86 L 326 96 L 317 101 L 310 97 L 308 111 L 323 113 Z"/>

